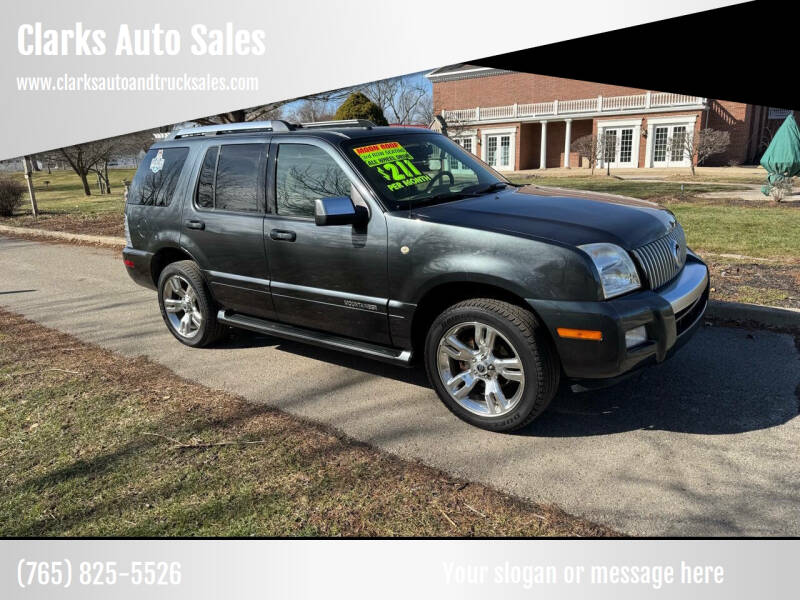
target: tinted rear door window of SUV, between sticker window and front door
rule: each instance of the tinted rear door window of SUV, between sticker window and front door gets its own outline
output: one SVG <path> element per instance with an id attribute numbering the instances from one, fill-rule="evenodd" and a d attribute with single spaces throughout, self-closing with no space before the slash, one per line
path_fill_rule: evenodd
<path id="1" fill-rule="evenodd" d="M 264 144 L 214 146 L 206 151 L 195 203 L 207 210 L 260 212 L 264 198 Z"/>

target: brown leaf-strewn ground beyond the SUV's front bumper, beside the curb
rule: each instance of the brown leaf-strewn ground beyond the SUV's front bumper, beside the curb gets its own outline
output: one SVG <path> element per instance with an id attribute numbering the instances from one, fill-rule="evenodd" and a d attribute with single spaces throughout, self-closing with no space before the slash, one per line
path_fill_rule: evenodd
<path id="1" fill-rule="evenodd" d="M 800 264 L 772 264 L 706 257 L 711 299 L 800 308 Z"/>

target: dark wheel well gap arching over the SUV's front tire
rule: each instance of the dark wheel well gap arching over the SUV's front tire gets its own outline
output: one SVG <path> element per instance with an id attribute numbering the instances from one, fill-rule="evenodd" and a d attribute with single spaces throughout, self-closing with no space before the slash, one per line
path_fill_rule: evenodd
<path id="1" fill-rule="evenodd" d="M 415 353 L 421 353 L 425 336 L 433 320 L 445 309 L 470 298 L 493 298 L 531 310 L 525 300 L 501 287 L 473 282 L 445 283 L 428 290 L 417 304 L 411 322 L 411 344 Z"/>

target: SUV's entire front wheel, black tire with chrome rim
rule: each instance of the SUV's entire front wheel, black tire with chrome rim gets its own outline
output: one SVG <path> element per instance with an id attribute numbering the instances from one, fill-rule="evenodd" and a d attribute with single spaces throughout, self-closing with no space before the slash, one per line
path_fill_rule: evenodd
<path id="1" fill-rule="evenodd" d="M 425 368 L 456 416 L 498 432 L 525 427 L 544 412 L 561 374 L 533 313 L 490 298 L 459 302 L 433 321 Z"/>

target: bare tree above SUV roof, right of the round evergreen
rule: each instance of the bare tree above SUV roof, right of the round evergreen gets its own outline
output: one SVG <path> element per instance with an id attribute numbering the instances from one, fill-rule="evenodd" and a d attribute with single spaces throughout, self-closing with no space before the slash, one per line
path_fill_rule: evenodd
<path id="1" fill-rule="evenodd" d="M 360 86 L 359 91 L 381 107 L 390 123 L 427 125 L 433 120 L 433 98 L 424 83 L 392 77 Z"/>

